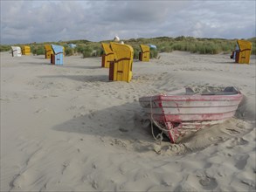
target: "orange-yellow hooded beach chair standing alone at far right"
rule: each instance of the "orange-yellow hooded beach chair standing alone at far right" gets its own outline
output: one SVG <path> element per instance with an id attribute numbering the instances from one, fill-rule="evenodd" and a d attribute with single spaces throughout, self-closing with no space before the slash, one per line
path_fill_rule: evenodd
<path id="1" fill-rule="evenodd" d="M 246 40 L 238 40 L 237 45 L 239 45 L 239 50 L 236 51 L 236 63 L 250 64 L 252 43 Z"/>

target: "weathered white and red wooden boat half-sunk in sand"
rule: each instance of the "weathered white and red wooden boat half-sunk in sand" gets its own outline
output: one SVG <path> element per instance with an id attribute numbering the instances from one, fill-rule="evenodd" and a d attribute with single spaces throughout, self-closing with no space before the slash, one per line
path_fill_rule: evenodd
<path id="1" fill-rule="evenodd" d="M 185 134 L 232 118 L 242 98 L 236 88 L 228 86 L 217 93 L 194 93 L 186 88 L 183 93 L 179 90 L 142 97 L 139 102 L 151 124 L 154 123 L 175 143 Z"/>

